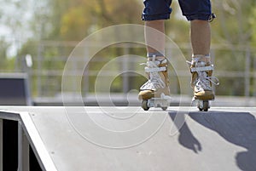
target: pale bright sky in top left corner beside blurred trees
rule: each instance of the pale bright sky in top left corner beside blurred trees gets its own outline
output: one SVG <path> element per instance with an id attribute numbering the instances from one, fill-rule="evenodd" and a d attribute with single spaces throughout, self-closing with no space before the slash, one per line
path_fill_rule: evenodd
<path id="1" fill-rule="evenodd" d="M 33 0 L 0 0 L 0 4 L 0 38 L 11 44 L 7 52 L 11 57 L 17 54 L 22 42 L 32 37 L 29 21 L 32 19 Z M 17 22 L 20 22 L 18 28 L 15 27 Z"/>

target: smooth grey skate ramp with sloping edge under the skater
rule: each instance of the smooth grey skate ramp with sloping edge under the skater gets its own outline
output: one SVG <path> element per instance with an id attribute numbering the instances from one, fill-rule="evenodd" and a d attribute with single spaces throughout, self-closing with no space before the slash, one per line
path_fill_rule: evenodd
<path id="1" fill-rule="evenodd" d="M 0 108 L 44 170 L 256 170 L 256 108 Z"/>

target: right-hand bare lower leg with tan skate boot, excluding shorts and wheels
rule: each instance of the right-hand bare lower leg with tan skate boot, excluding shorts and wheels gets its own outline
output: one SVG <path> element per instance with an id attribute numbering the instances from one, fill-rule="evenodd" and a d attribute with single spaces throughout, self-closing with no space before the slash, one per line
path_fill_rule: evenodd
<path id="1" fill-rule="evenodd" d="M 201 67 L 202 71 L 192 71 L 191 86 L 194 87 L 194 96 L 198 100 L 212 100 L 212 83 L 207 77 L 212 77 L 210 46 L 211 28 L 207 20 L 191 21 L 191 44 L 193 49 L 191 68 Z"/>

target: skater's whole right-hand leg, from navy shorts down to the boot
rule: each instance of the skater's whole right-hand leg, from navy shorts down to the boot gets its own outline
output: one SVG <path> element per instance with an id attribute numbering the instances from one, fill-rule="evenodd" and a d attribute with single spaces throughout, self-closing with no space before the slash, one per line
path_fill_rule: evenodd
<path id="1" fill-rule="evenodd" d="M 195 99 L 212 100 L 212 70 L 210 59 L 211 28 L 208 20 L 212 18 L 210 0 L 178 0 L 183 15 L 190 21 L 192 45 L 191 86 Z"/>

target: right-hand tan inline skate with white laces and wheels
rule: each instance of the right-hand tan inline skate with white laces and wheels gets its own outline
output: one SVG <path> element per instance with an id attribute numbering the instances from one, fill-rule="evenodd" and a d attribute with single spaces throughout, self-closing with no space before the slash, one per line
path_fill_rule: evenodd
<path id="1" fill-rule="evenodd" d="M 190 65 L 191 87 L 194 88 L 193 101 L 197 101 L 200 111 L 208 111 L 209 100 L 214 100 L 215 97 L 212 84 L 218 85 L 218 78 L 212 77 L 213 65 L 210 56 L 196 55 Z"/>

